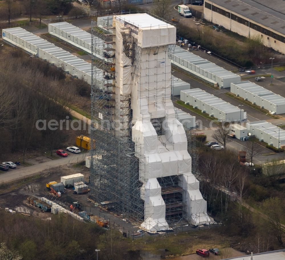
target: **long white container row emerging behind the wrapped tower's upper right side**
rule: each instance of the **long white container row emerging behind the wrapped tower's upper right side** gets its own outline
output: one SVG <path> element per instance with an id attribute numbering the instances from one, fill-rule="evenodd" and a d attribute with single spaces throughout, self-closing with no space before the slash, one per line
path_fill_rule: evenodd
<path id="1" fill-rule="evenodd" d="M 231 71 L 217 66 L 206 59 L 175 46 L 174 53 L 171 53 L 172 63 L 190 73 L 211 83 L 217 83 L 219 88 L 229 88 L 232 82 L 241 81 L 241 77 Z"/>

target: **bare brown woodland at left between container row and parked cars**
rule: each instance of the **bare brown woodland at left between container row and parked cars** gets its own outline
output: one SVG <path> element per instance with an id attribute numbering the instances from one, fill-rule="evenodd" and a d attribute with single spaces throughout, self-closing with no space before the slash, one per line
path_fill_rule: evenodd
<path id="1" fill-rule="evenodd" d="M 58 148 L 67 138 L 62 129 L 39 131 L 38 120 L 65 120 L 75 95 L 90 95 L 90 86 L 81 80 L 66 78 L 64 72 L 48 62 L 24 55 L 22 51 L 0 49 L 0 144 L 5 152 L 42 147 Z M 68 123 L 66 123 L 68 122 Z"/>

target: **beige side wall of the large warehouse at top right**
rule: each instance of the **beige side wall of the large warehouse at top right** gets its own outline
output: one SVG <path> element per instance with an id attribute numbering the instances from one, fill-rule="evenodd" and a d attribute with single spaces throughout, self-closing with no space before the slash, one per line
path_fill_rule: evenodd
<path id="1" fill-rule="evenodd" d="M 223 7 L 221 7 L 221 9 L 226 10 Z M 248 18 L 241 16 L 237 13 L 234 13 L 234 12 L 232 12 L 232 13 L 238 15 L 239 17 L 242 17 L 245 20 L 248 19 Z M 280 41 L 278 41 L 278 40 L 276 40 L 270 36 L 267 36 L 265 34 L 262 34 L 256 30 L 254 30 L 253 28 L 249 28 L 249 26 L 246 26 L 246 25 L 243 25 L 237 21 L 234 21 L 227 16 L 221 15 L 217 12 L 213 12 L 210 9 L 205 8 L 205 7 L 204 7 L 204 19 L 212 22 L 213 24 L 220 24 L 220 25 L 224 26 L 227 30 L 230 30 L 232 32 L 236 32 L 236 33 L 238 33 L 242 36 L 245 36 L 245 37 L 249 37 L 249 36 L 253 36 L 253 35 L 262 35 L 265 46 L 270 47 L 276 51 L 279 51 L 279 52 L 285 54 L 285 43 L 280 42 Z M 251 21 L 251 20 L 249 19 L 249 21 Z M 257 22 L 255 22 L 255 23 L 258 24 Z M 262 24 L 258 24 L 258 25 L 260 25 L 262 27 L 266 27 Z M 272 32 L 276 32 L 276 31 L 269 29 L 269 28 L 268 28 L 268 30 L 271 30 Z M 280 33 L 276 32 L 276 34 L 280 34 Z"/>

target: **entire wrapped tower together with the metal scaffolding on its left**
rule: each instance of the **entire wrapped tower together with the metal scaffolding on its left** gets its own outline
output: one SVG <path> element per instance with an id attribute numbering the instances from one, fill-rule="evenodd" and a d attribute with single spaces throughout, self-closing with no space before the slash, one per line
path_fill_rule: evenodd
<path id="1" fill-rule="evenodd" d="M 195 142 L 171 100 L 175 26 L 146 13 L 101 21 L 91 29 L 90 196 L 147 232 L 209 224 Z"/>

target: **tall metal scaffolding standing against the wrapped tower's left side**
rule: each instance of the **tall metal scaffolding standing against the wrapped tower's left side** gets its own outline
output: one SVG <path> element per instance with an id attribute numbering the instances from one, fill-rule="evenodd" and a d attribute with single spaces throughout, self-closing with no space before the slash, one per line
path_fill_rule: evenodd
<path id="1" fill-rule="evenodd" d="M 120 95 L 116 87 L 113 23 L 107 21 L 104 28 L 92 22 L 91 138 L 96 148 L 91 150 L 90 194 L 102 206 L 141 221 L 144 202 L 131 141 L 130 95 Z"/>

